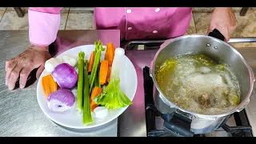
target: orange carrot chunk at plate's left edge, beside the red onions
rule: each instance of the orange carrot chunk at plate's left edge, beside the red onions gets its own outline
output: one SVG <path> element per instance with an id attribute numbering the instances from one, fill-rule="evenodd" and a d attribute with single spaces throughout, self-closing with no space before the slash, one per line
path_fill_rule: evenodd
<path id="1" fill-rule="evenodd" d="M 51 74 L 42 77 L 42 89 L 46 94 L 46 97 L 58 90 L 58 84 L 57 82 L 54 82 L 54 78 L 51 76 Z"/>

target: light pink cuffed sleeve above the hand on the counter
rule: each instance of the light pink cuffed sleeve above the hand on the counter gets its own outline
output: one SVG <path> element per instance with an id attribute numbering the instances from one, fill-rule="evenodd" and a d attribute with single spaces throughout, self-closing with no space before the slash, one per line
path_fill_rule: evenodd
<path id="1" fill-rule="evenodd" d="M 36 46 L 49 46 L 55 41 L 60 25 L 61 7 L 30 7 L 30 43 Z"/>

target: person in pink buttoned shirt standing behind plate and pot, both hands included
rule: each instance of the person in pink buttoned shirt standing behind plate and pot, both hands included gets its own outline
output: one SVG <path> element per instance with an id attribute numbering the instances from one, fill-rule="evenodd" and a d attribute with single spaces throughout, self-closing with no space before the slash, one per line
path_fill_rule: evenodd
<path id="1" fill-rule="evenodd" d="M 37 78 L 44 70 L 44 63 L 51 58 L 48 46 L 57 37 L 60 10 L 59 7 L 29 8 L 30 46 L 6 61 L 6 86 L 10 90 L 14 89 L 18 78 L 19 87 L 24 88 L 32 70 L 38 68 Z M 191 7 L 94 8 L 95 29 L 120 30 L 122 40 L 176 38 L 186 34 L 191 18 Z M 227 42 L 236 26 L 231 7 L 218 7 L 211 14 L 208 33 L 217 29 Z"/>

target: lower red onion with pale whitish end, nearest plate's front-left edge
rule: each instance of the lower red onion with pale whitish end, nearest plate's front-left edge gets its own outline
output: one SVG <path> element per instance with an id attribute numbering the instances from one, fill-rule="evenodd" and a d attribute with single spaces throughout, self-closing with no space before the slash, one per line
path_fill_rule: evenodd
<path id="1" fill-rule="evenodd" d="M 74 94 L 70 90 L 59 89 L 49 95 L 47 98 L 47 105 L 50 110 L 62 112 L 70 110 L 71 106 L 74 104 L 74 101 Z"/>

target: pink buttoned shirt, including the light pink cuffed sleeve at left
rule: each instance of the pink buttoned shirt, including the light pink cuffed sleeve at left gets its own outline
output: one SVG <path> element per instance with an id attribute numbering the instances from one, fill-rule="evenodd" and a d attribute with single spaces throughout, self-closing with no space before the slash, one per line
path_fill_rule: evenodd
<path id="1" fill-rule="evenodd" d="M 49 46 L 54 42 L 60 24 L 60 10 L 56 7 L 30 7 L 30 42 Z M 175 38 L 186 34 L 192 8 L 95 8 L 94 26 L 97 30 L 121 30 L 121 38 L 152 39 Z"/>

